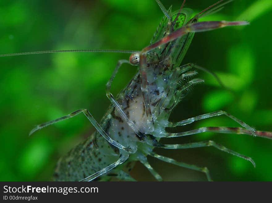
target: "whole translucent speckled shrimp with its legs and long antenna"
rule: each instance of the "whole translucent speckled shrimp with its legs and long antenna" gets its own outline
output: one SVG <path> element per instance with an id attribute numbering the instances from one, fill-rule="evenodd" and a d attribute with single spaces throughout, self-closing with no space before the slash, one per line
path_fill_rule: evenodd
<path id="1" fill-rule="evenodd" d="M 195 69 L 210 73 L 209 70 L 194 64 L 181 64 L 194 33 L 226 26 L 247 25 L 248 22 L 198 22 L 198 19 L 202 16 L 219 11 L 224 4 L 230 1 L 223 2 L 221 0 L 192 18 L 192 10 L 183 8 L 185 1 L 183 1 L 180 10 L 175 12 L 172 12 L 171 8 L 167 10 L 159 0 L 156 0 L 156 2 L 165 16 L 160 22 L 150 45 L 141 51 L 60 50 L 1 55 L 14 56 L 69 51 L 131 53 L 128 60 L 119 60 L 117 62 L 115 70 L 106 84 L 106 94 L 112 104 L 100 124 L 87 109 L 79 109 L 53 121 L 37 125 L 30 132 L 32 134 L 38 129 L 80 113 L 83 113 L 96 128 L 95 133 L 59 160 L 54 173 L 54 180 L 91 181 L 98 177 L 101 180 L 109 180 L 114 176 L 121 180 L 133 181 L 134 179 L 127 173 L 129 164 L 124 163 L 134 163 L 135 161 L 140 161 L 157 180 L 162 180 L 161 176 L 147 162 L 147 156 L 153 156 L 168 163 L 203 172 L 206 174 L 207 180 L 210 181 L 212 179 L 208 168 L 178 162 L 169 157 L 156 154 L 153 149 L 156 147 L 188 149 L 213 146 L 218 150 L 250 161 L 254 167 L 255 163 L 250 157 L 239 154 L 211 140 L 185 144 L 162 144 L 159 142 L 160 138 L 181 137 L 202 132 L 248 134 L 272 138 L 271 132 L 257 131 L 224 111 L 211 112 L 176 123 L 168 121 L 171 111 L 180 102 L 182 95 L 185 95 L 189 88 L 195 84 L 204 82 L 202 79 L 193 78 L 197 74 Z M 119 68 L 124 63 L 138 66 L 139 71 L 117 97 L 114 97 L 111 94 L 111 84 Z M 214 76 L 216 77 L 216 75 Z M 218 78 L 216 77 L 216 79 Z M 202 127 L 180 133 L 166 131 L 166 127 L 187 125 L 194 121 L 220 115 L 236 121 L 241 127 Z"/>

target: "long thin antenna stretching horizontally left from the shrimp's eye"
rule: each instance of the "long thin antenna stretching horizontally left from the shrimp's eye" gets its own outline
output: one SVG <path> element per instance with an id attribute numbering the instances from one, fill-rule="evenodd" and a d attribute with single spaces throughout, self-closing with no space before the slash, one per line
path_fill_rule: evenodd
<path id="1" fill-rule="evenodd" d="M 38 51 L 38 52 L 24 52 L 24 53 L 9 53 L 2 54 L 0 57 L 5 56 L 20 56 L 28 54 L 41 54 L 41 53 L 61 53 L 61 52 L 109 52 L 109 53 L 138 53 L 140 51 L 133 50 L 114 50 L 114 49 L 71 49 L 71 50 L 50 50 L 50 51 Z"/>

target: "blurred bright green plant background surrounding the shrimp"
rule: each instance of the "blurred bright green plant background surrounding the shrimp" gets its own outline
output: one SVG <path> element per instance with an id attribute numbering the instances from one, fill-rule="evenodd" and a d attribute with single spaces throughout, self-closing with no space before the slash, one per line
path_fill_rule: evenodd
<path id="1" fill-rule="evenodd" d="M 162 0 L 178 10 L 181 0 Z M 199 12 L 215 0 L 188 0 Z M 249 26 L 197 33 L 183 64 L 197 63 L 215 71 L 236 96 L 210 75 L 170 116 L 180 121 L 225 110 L 259 130 L 272 131 L 271 0 L 236 0 L 206 20 L 248 20 Z M 163 13 L 153 0 L 1 1 L 0 54 L 56 49 L 141 50 L 149 44 Z M 205 20 L 205 19 L 202 19 Z M 87 108 L 99 121 L 110 104 L 105 95 L 118 59 L 128 54 L 58 53 L 0 58 L 0 180 L 50 180 L 57 159 L 94 131 L 82 114 L 42 129 L 36 125 Z M 113 82 L 116 95 L 136 73 L 123 66 Z M 169 129 L 181 132 L 203 126 L 239 126 L 226 116 Z M 248 135 L 201 133 L 164 143 L 214 140 L 252 157 L 250 162 L 215 148 L 156 150 L 159 154 L 210 169 L 214 180 L 272 180 L 272 140 Z M 204 174 L 148 158 L 164 180 L 206 180 Z M 131 172 L 137 180 L 154 180 L 141 164 Z"/>

